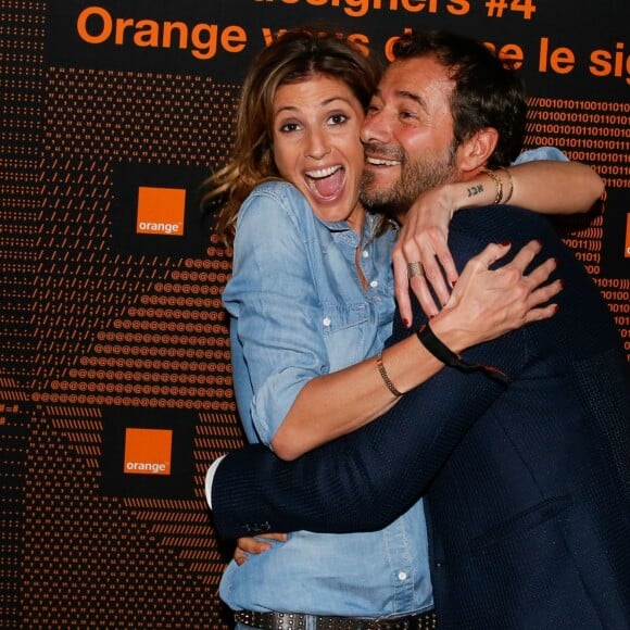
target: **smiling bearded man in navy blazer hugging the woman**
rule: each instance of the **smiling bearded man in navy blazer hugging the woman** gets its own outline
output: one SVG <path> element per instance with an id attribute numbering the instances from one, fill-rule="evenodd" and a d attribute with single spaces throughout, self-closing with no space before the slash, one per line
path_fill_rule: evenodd
<path id="1" fill-rule="evenodd" d="M 427 181 L 507 164 L 525 110 L 481 45 L 437 34 L 394 52 L 363 140 L 365 202 L 400 216 Z M 424 328 L 452 366 L 379 420 L 292 463 L 261 446 L 229 454 L 212 487 L 222 536 L 378 529 L 425 495 L 440 628 L 629 628 L 630 375 L 606 306 L 519 209 L 458 213 L 450 247 L 462 266 L 488 242 L 532 238 L 562 268 L 555 317 L 464 360 Z M 396 322 L 392 341 L 407 335 Z"/>

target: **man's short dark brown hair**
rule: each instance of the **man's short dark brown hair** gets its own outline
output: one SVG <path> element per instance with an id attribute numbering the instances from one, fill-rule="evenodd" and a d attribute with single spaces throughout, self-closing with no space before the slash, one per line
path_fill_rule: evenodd
<path id="1" fill-rule="evenodd" d="M 516 71 L 486 45 L 444 30 L 403 35 L 394 45 L 396 60 L 433 56 L 455 81 L 451 97 L 453 134 L 462 143 L 477 131 L 499 131 L 490 168 L 507 166 L 520 153 L 525 137 L 527 101 Z"/>

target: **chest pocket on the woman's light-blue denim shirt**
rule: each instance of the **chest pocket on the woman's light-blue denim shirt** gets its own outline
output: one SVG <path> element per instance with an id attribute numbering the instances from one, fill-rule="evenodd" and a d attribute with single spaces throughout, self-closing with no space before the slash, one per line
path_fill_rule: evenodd
<path id="1" fill-rule="evenodd" d="M 330 360 L 330 371 L 337 371 L 367 357 L 376 338 L 365 302 L 323 304 L 322 335 Z"/>

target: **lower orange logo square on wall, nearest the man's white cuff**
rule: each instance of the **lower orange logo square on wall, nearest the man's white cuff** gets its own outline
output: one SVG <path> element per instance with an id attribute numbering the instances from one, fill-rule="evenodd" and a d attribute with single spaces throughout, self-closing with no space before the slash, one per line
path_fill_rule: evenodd
<path id="1" fill-rule="evenodd" d="M 173 431 L 171 429 L 125 429 L 127 475 L 171 475 Z"/>

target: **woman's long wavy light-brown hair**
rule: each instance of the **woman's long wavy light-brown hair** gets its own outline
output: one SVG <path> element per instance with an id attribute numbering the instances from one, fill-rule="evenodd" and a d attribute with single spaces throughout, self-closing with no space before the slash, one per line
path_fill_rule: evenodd
<path id="1" fill-rule="evenodd" d="M 241 90 L 232 159 L 205 182 L 207 207 L 227 201 L 218 214 L 216 231 L 228 243 L 245 197 L 262 181 L 279 178 L 272 146 L 278 89 L 323 76 L 344 84 L 366 110 L 381 70 L 348 37 L 324 28 L 287 30 L 261 51 Z"/>

